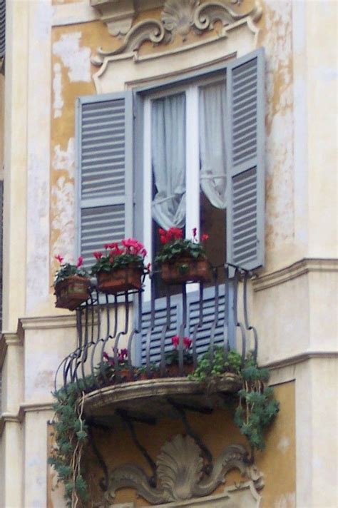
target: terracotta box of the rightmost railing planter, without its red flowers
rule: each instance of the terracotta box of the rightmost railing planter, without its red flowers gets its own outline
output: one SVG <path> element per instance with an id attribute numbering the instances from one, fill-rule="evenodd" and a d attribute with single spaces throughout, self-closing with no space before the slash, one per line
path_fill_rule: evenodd
<path id="1" fill-rule="evenodd" d="M 161 266 L 161 278 L 168 284 L 208 283 L 211 276 L 210 264 L 206 259 L 180 258 L 175 263 L 163 263 Z"/>

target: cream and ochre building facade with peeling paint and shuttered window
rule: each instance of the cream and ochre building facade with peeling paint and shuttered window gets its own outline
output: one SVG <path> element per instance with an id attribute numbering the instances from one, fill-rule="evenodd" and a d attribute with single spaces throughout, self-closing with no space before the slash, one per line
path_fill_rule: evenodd
<path id="1" fill-rule="evenodd" d="M 159 361 L 165 329 L 163 348 L 193 330 L 197 352 L 225 335 L 240 352 L 257 345 L 280 402 L 265 449 L 245 462 L 217 397 L 188 392 L 177 407 L 180 378 L 106 387 L 84 400 L 89 505 L 333 508 L 335 2 L 7 0 L 0 21 L 0 506 L 66 506 L 47 464 L 51 392 L 93 370 L 87 352 L 103 339 L 108 351 L 119 337 L 137 365 Z M 225 273 L 177 298 L 145 278 L 138 342 L 135 296 L 106 305 L 101 332 L 98 314 L 55 308 L 55 255 L 90 265 L 135 236 L 153 263 L 157 228 L 172 225 L 208 233 Z"/>

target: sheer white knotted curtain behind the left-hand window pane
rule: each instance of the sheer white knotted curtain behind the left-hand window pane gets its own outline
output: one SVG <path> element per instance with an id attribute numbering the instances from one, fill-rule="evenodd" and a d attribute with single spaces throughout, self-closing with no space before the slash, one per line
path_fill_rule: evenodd
<path id="1" fill-rule="evenodd" d="M 152 101 L 153 219 L 161 228 L 185 224 L 185 94 Z"/>

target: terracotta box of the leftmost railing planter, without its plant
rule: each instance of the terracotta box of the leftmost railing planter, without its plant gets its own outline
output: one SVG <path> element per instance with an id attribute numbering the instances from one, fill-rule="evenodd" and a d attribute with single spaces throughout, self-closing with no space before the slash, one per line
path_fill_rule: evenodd
<path id="1" fill-rule="evenodd" d="M 71 275 L 55 286 L 56 304 L 62 309 L 74 310 L 89 298 L 90 280 Z"/>

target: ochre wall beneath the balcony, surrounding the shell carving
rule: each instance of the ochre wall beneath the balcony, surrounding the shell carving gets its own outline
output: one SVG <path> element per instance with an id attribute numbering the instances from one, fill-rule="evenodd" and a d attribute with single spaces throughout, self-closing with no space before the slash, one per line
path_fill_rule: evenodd
<path id="1" fill-rule="evenodd" d="M 262 452 L 255 452 L 255 465 L 263 474 L 265 487 L 260 491 L 263 498 L 263 508 L 295 507 L 295 382 L 287 382 L 274 387 L 275 397 L 280 401 L 280 413 L 266 434 L 266 448 Z M 151 402 L 150 402 L 151 403 Z M 222 449 L 230 444 L 244 444 L 247 440 L 240 435 L 232 421 L 229 411 L 215 410 L 212 415 L 200 415 L 187 412 L 188 422 L 193 431 L 210 449 L 212 457 L 216 458 Z M 150 457 L 155 460 L 160 447 L 176 434 L 185 433 L 180 420 L 159 420 L 158 425 L 135 423 L 135 434 L 140 444 L 145 447 Z M 107 432 L 96 430 L 95 442 L 101 452 L 108 470 L 122 464 L 137 464 L 148 474 L 150 469 L 140 451 L 133 444 L 128 430 L 113 430 Z M 249 449 L 249 448 L 248 448 Z M 103 476 L 98 467 L 96 456 L 88 449 L 85 454 L 88 477 L 91 480 L 90 490 L 93 501 L 100 497 L 98 481 Z M 85 459 L 86 460 L 86 459 Z M 238 471 L 233 471 L 225 477 L 225 486 L 220 486 L 215 493 L 222 492 L 235 482 L 243 481 Z M 116 502 L 135 502 L 136 506 L 148 506 L 142 498 L 135 496 L 133 489 L 121 489 L 116 493 Z M 48 508 L 52 508 L 52 505 Z M 243 507 L 244 508 L 244 507 Z"/>

